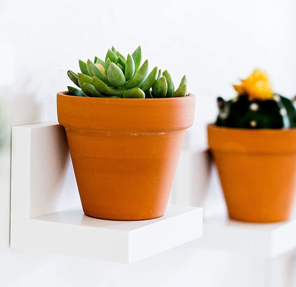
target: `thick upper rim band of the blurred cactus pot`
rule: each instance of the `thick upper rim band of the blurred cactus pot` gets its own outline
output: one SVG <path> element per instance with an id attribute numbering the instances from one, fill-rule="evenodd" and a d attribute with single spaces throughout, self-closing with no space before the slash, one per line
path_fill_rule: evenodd
<path id="1" fill-rule="evenodd" d="M 284 154 L 296 152 L 296 128 L 240 129 L 207 125 L 210 149 L 233 153 Z"/>

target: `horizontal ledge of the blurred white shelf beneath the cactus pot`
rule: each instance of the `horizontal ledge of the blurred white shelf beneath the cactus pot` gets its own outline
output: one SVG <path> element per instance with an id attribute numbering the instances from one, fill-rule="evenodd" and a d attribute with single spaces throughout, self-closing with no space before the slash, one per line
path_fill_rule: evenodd
<path id="1" fill-rule="evenodd" d="M 227 218 L 204 221 L 198 247 L 246 251 L 276 257 L 296 248 L 296 220 L 279 223 L 244 223 Z"/>

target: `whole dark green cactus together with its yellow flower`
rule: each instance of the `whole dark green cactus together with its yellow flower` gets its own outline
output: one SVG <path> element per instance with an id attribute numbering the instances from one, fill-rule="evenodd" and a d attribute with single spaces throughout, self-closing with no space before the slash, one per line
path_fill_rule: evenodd
<path id="1" fill-rule="evenodd" d="M 238 95 L 225 101 L 217 99 L 217 126 L 248 129 L 296 127 L 295 98 L 289 100 L 273 93 L 265 72 L 255 70 L 240 85 L 233 85 Z"/>

